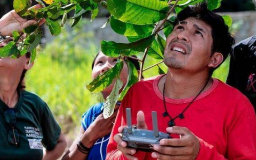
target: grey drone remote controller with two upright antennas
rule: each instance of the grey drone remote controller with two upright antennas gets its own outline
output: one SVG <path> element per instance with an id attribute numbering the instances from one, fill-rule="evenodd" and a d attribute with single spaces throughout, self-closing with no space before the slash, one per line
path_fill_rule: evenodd
<path id="1" fill-rule="evenodd" d="M 161 139 L 171 138 L 169 134 L 158 131 L 156 111 L 152 111 L 153 131 L 133 129 L 131 108 L 126 108 L 127 128 L 122 131 L 122 140 L 127 147 L 142 151 L 153 151 L 153 145 L 158 145 Z"/>

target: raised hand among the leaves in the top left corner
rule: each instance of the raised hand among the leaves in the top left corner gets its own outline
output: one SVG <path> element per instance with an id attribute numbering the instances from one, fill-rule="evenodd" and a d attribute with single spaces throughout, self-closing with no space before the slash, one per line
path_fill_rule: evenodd
<path id="1" fill-rule="evenodd" d="M 41 8 L 41 5 L 33 6 L 35 9 Z M 43 25 L 45 20 L 43 19 L 38 23 L 39 26 Z M 0 32 L 3 36 L 12 36 L 12 32 L 17 30 L 19 33 L 22 32 L 22 29 L 27 28 L 28 26 L 35 25 L 37 21 L 35 20 L 26 20 L 23 19 L 17 14 L 14 10 L 8 12 L 0 19 Z"/>

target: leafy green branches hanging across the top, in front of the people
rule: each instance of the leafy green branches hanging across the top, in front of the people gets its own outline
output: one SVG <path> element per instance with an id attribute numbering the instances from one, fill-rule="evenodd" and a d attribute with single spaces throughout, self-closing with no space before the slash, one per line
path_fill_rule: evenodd
<path id="1" fill-rule="evenodd" d="M 141 79 L 143 71 L 158 66 L 158 73 L 164 74 L 164 71 L 159 67 L 159 63 L 163 62 L 165 39 L 172 33 L 175 15 L 185 9 L 189 5 L 204 2 L 206 0 L 44 0 L 46 6 L 41 0 L 35 0 L 43 7 L 41 9 L 29 9 L 30 0 L 14 0 L 13 6 L 15 11 L 25 19 L 35 19 L 38 22 L 46 19 L 45 24 L 49 27 L 52 35 L 59 35 L 61 27 L 67 21 L 67 14 L 70 11 L 75 11 L 72 27 L 82 19 L 82 15 L 91 12 L 91 20 L 97 17 L 99 5 L 106 7 L 110 13 L 107 23 L 110 23 L 111 28 L 120 35 L 127 37 L 130 43 L 117 43 L 113 41 L 102 41 L 101 51 L 109 57 L 118 57 L 119 60 L 115 67 L 109 69 L 105 73 L 95 78 L 87 89 L 91 92 L 101 92 L 109 86 L 114 79 L 116 80 L 114 89 L 106 99 L 105 118 L 113 113 L 115 102 L 122 100 L 129 88 L 138 82 L 138 71 L 133 63 L 126 60 L 125 57 L 138 55 L 143 53 L 142 59 L 133 58 L 141 62 L 140 75 Z M 220 7 L 222 0 L 208 0 L 207 5 L 209 10 L 214 10 Z M 58 19 L 62 17 L 61 22 Z M 228 26 L 231 26 L 232 20 L 228 15 L 224 15 Z M 163 30 L 164 36 L 159 35 Z M 42 29 L 38 27 L 38 23 L 29 26 L 23 30 L 26 38 L 19 41 L 22 34 L 13 31 L 14 41 L 0 48 L 0 57 L 19 57 L 27 52 L 31 52 L 33 57 L 36 55 L 36 46 L 41 42 Z M 153 66 L 146 69 L 144 64 L 147 61 L 147 55 L 159 60 Z M 122 91 L 122 84 L 119 82 L 119 75 L 124 65 L 127 65 L 129 75 L 126 86 Z M 120 94 L 119 94 L 120 93 Z M 119 95 L 117 95 L 119 94 Z"/>

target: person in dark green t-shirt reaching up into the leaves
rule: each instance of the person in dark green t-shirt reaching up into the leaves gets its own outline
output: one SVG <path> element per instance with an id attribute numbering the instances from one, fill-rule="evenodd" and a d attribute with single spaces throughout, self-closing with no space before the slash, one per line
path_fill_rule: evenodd
<path id="1" fill-rule="evenodd" d="M 11 36 L 13 30 L 21 33 L 35 22 L 11 11 L 0 19 L 0 33 L 3 36 Z M 0 48 L 10 41 L 12 38 L 4 39 Z M 30 53 L 17 59 L 0 57 L 0 159 L 58 159 L 67 146 L 46 103 L 25 91 L 23 78 L 32 66 Z"/>

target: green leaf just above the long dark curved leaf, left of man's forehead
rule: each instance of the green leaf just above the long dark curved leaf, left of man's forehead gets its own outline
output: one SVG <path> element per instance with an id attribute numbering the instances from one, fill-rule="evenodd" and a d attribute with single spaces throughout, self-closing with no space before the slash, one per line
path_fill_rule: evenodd
<path id="1" fill-rule="evenodd" d="M 117 20 L 114 16 L 110 18 L 111 28 L 118 34 L 124 36 L 139 36 L 147 33 L 152 33 L 154 25 L 134 25 Z"/>

